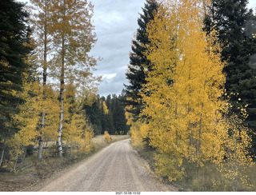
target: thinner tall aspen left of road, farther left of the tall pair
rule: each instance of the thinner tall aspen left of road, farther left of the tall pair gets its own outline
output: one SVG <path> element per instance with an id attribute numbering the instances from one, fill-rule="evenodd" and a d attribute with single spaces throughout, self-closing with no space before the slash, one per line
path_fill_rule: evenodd
<path id="1" fill-rule="evenodd" d="M 30 21 L 34 26 L 34 40 L 37 44 L 35 48 L 36 56 L 38 57 L 38 66 L 42 69 L 42 95 L 46 100 L 47 91 L 47 76 L 50 68 L 50 53 L 53 51 L 51 26 L 52 21 L 52 6 L 50 0 L 31 0 L 31 10 L 34 14 L 31 16 Z M 41 75 L 40 75 L 41 76 Z M 42 111 L 41 132 L 44 131 L 46 121 L 46 113 Z M 42 159 L 42 134 L 38 137 L 38 160 Z"/>

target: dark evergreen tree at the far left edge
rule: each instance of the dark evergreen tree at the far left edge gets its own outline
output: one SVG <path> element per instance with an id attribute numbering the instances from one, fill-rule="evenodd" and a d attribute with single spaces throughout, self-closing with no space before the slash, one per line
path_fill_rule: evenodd
<path id="1" fill-rule="evenodd" d="M 27 69 L 26 55 L 30 47 L 29 28 L 26 26 L 28 14 L 23 4 L 14 0 L 0 2 L 0 150 L 4 151 L 10 129 L 10 115 L 18 112 L 22 99 L 14 96 L 14 91 L 22 89 L 22 73 Z"/>

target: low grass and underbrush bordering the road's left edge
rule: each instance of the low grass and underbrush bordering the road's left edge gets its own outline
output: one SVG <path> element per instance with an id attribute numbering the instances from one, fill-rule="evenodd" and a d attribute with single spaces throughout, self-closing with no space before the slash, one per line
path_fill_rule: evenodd
<path id="1" fill-rule="evenodd" d="M 111 137 L 111 143 L 130 138 L 128 135 L 114 135 Z M 66 155 L 60 158 L 54 146 L 51 146 L 49 149 L 43 150 L 42 161 L 38 161 L 37 153 L 34 153 L 19 162 L 14 172 L 7 172 L 5 169 L 1 169 L 0 191 L 29 191 L 31 185 L 35 185 L 43 179 L 52 176 L 54 173 L 69 168 L 71 165 L 74 165 L 74 163 L 82 161 L 86 157 L 90 157 L 100 149 L 109 145 L 104 141 L 103 135 L 94 137 L 92 142 L 90 153 L 70 156 L 70 153 L 66 151 Z"/>

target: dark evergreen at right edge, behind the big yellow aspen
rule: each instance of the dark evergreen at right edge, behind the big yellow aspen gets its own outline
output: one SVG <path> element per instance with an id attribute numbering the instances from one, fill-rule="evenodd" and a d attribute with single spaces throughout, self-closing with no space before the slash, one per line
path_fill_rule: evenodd
<path id="1" fill-rule="evenodd" d="M 227 62 L 226 92 L 230 96 L 233 112 L 246 107 L 246 124 L 256 127 L 256 70 L 250 66 L 256 54 L 256 33 L 252 10 L 247 10 L 248 0 L 214 0 L 211 13 L 206 15 L 206 30 L 218 31 L 222 44 L 222 61 Z M 254 63 L 254 62 L 253 62 Z M 254 137 L 254 145 L 256 137 Z M 255 148 L 255 147 L 254 147 Z M 255 151 L 254 151 L 255 153 Z"/>

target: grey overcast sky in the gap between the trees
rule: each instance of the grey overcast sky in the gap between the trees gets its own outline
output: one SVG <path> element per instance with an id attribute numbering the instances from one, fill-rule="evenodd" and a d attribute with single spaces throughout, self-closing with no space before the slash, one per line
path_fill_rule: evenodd
<path id="1" fill-rule="evenodd" d="M 1 0 L 0 0 L 1 1 Z M 19 0 L 29 2 L 29 0 Z M 91 54 L 98 62 L 95 75 L 102 75 L 98 94 L 120 94 L 126 83 L 126 69 L 129 64 L 131 41 L 138 28 L 138 13 L 146 0 L 90 0 L 94 5 L 94 26 L 98 42 Z M 256 0 L 249 0 L 250 8 L 256 7 Z"/>

